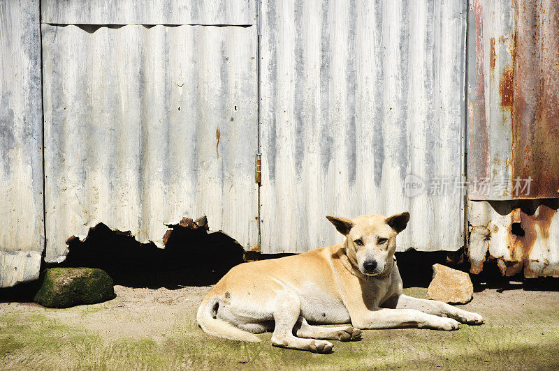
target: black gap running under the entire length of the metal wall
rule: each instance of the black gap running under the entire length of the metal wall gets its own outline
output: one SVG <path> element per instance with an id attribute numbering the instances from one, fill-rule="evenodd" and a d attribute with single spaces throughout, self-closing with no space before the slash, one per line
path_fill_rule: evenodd
<path id="1" fill-rule="evenodd" d="M 152 243 L 138 243 L 133 236 L 112 231 L 100 224 L 89 232 L 85 241 L 71 241 L 69 250 L 65 262 L 49 266 L 101 268 L 112 277 L 115 285 L 151 289 L 213 285 L 229 269 L 242 263 L 244 255 L 242 247 L 225 234 L 208 234 L 203 228 L 180 226 L 173 227 L 165 249 L 159 249 Z M 462 251 L 451 254 L 455 258 L 453 262 L 447 259 L 449 253 L 444 251 L 396 252 L 404 287 L 428 287 L 433 278 L 433 264 L 436 263 L 469 271 L 470 263 Z M 286 255 L 291 254 L 246 254 L 249 260 Z M 41 271 L 44 268 L 47 268 L 46 264 L 43 264 Z M 475 292 L 486 288 L 559 291 L 559 278 L 525 279 L 521 274 L 504 277 L 492 260 L 485 262 L 481 273 L 470 274 L 470 277 Z M 33 301 L 37 290 L 37 281 L 0 289 L 0 302 Z"/>

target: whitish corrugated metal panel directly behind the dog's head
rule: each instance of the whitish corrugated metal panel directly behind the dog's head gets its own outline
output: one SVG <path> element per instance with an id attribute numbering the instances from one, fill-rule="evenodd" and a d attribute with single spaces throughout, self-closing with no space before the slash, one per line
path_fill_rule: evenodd
<path id="1" fill-rule="evenodd" d="M 406 197 L 405 179 L 463 175 L 463 1 L 266 0 L 261 17 L 261 241 L 342 240 L 325 215 L 410 211 L 398 249 L 464 245 L 464 190 Z"/>

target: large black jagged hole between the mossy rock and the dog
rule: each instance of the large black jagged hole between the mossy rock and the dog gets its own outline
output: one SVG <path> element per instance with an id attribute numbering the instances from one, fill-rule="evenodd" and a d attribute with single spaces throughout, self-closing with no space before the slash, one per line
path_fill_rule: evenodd
<path id="1" fill-rule="evenodd" d="M 179 225 L 173 226 L 164 249 L 103 224 L 92 228 L 84 241 L 70 241 L 68 249 L 66 260 L 57 266 L 101 268 L 115 285 L 150 289 L 213 285 L 243 262 L 244 252 L 225 234 Z"/>

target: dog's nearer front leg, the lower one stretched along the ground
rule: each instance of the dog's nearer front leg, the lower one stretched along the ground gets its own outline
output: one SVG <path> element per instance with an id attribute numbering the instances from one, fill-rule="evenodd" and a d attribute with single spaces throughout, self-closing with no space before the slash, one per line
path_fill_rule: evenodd
<path id="1" fill-rule="evenodd" d="M 414 309 L 378 308 L 351 317 L 351 324 L 357 328 L 399 328 L 418 327 L 451 331 L 460 327 L 460 322 L 445 317 L 428 315 Z"/>

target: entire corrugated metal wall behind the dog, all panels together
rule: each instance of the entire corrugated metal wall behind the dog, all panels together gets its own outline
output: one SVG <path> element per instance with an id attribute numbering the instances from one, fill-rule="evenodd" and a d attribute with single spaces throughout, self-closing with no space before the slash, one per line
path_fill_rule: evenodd
<path id="1" fill-rule="evenodd" d="M 556 1 L 472 0 L 467 42 L 466 1 L 265 0 L 260 44 L 257 4 L 43 0 L 43 105 L 38 2 L 0 2 L 0 287 L 37 277 L 44 228 L 60 262 L 98 222 L 302 252 L 342 239 L 325 215 L 407 210 L 399 250 L 457 250 L 466 149 L 472 271 L 559 275 Z"/>

